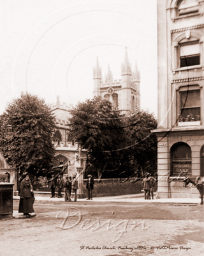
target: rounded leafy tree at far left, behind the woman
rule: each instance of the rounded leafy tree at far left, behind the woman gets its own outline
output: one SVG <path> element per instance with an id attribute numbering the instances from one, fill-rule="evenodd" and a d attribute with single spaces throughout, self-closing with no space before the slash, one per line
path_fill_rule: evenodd
<path id="1" fill-rule="evenodd" d="M 12 138 L 1 138 L 1 150 L 11 165 L 38 175 L 52 166 L 55 117 L 43 99 L 21 93 L 8 104 L 1 116 L 4 125 L 13 127 Z"/>

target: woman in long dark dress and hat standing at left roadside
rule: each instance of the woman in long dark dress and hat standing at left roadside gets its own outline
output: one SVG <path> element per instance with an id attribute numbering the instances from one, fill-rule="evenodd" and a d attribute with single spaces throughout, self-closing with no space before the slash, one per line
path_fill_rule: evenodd
<path id="1" fill-rule="evenodd" d="M 20 202 L 18 212 L 22 212 L 24 215 L 30 216 L 31 212 L 34 212 L 34 192 L 33 186 L 31 185 L 31 180 L 29 175 L 25 176 L 25 179 L 20 182 Z"/>

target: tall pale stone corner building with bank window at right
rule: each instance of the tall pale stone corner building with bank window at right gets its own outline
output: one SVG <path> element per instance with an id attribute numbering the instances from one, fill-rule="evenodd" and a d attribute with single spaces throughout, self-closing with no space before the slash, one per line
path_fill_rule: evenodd
<path id="1" fill-rule="evenodd" d="M 204 1 L 157 0 L 158 196 L 197 197 L 204 175 Z"/>

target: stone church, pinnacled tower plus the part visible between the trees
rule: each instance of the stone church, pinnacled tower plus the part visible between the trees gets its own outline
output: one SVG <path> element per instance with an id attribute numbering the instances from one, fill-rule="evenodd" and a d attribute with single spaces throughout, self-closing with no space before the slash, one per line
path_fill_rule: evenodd
<path id="1" fill-rule="evenodd" d="M 110 67 L 108 66 L 108 74 L 105 75 L 105 81 L 101 77 L 101 68 L 99 67 L 98 58 L 94 67 L 94 92 L 93 96 L 101 96 L 110 99 L 113 106 L 121 111 L 133 110 L 140 108 L 140 72 L 137 65 L 135 71 L 131 71 L 128 60 L 128 52 L 126 49 L 124 61 L 121 70 L 122 79 L 114 80 Z M 68 141 L 68 118 L 71 117 L 70 111 L 73 108 L 65 102 L 59 101 L 52 104 L 52 113 L 56 117 L 54 145 L 55 145 L 55 166 L 66 166 L 64 174 L 72 176 L 77 173 L 75 161 L 78 154 L 78 144 Z M 86 152 L 82 150 L 82 166 L 85 164 Z M 62 168 L 62 167 L 61 167 Z"/>

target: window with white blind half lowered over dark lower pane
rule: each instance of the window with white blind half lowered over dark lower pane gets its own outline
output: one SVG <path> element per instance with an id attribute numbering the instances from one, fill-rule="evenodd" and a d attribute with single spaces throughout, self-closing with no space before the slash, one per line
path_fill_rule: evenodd
<path id="1" fill-rule="evenodd" d="M 200 65 L 200 44 L 198 41 L 179 44 L 180 67 Z"/>

